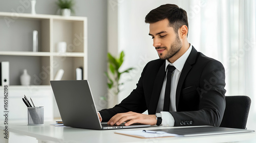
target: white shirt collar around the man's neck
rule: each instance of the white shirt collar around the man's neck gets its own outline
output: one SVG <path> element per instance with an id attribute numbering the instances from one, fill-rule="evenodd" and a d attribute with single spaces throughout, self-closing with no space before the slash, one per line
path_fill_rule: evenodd
<path id="1" fill-rule="evenodd" d="M 170 63 L 168 60 L 165 60 L 165 71 L 166 71 L 167 66 L 170 64 L 181 72 L 191 50 L 192 50 L 192 45 L 190 44 L 188 50 L 179 59 L 177 59 L 174 63 Z"/>

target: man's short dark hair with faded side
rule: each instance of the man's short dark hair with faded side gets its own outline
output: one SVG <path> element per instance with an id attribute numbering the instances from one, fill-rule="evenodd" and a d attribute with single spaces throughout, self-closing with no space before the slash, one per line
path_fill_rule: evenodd
<path id="1" fill-rule="evenodd" d="M 183 25 L 187 26 L 187 12 L 177 5 L 165 4 L 153 9 L 145 17 L 146 23 L 155 23 L 157 21 L 167 18 L 169 20 L 169 26 L 174 28 L 174 31 L 178 34 L 178 30 Z"/>

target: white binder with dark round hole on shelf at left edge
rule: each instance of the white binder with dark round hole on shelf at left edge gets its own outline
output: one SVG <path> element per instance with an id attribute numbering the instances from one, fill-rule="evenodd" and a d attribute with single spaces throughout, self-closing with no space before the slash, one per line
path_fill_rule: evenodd
<path id="1" fill-rule="evenodd" d="M 0 62 L 0 85 L 9 85 L 9 62 Z"/>

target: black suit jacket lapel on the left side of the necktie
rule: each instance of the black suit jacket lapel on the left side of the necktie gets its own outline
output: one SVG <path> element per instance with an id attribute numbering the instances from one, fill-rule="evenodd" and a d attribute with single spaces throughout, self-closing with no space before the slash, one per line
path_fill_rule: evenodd
<path id="1" fill-rule="evenodd" d="M 155 114 L 157 110 L 157 104 L 160 97 L 163 80 L 165 77 L 165 62 L 163 62 L 162 66 L 159 68 L 157 76 L 154 81 L 154 86 L 152 90 L 150 107 L 148 107 L 148 114 Z"/>

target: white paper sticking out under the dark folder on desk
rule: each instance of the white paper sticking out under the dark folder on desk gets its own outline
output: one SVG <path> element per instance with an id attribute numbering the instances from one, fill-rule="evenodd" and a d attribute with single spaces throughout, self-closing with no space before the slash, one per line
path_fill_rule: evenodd
<path id="1" fill-rule="evenodd" d="M 174 136 L 181 136 L 178 134 L 170 134 L 170 133 L 163 133 L 163 134 L 157 134 L 157 133 L 146 133 L 143 132 L 143 130 L 129 130 L 129 131 L 116 131 L 117 134 L 122 135 L 129 135 L 139 138 L 153 138 L 153 137 L 174 137 Z"/>

